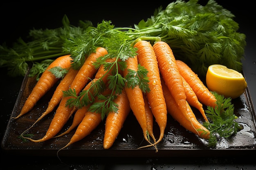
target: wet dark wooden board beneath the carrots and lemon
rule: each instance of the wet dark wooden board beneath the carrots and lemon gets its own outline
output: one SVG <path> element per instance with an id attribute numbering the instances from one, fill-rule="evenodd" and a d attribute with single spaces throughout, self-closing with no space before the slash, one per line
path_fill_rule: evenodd
<path id="1" fill-rule="evenodd" d="M 35 84 L 35 78 L 25 76 L 11 117 L 15 117 L 20 113 L 26 98 L 29 96 Z M 45 111 L 53 92 L 54 87 L 38 101 L 36 106 L 29 111 L 29 113 L 23 115 L 19 119 L 9 119 L 2 139 L 2 148 L 4 151 L 17 155 L 56 156 L 57 151 L 68 143 L 74 134 L 74 130 L 63 137 L 50 139 L 41 143 L 34 143 L 31 141 L 22 142 L 22 140 L 18 138 L 18 136 L 24 130 L 29 128 Z M 187 155 L 199 156 L 204 153 L 212 156 L 229 156 L 234 154 L 247 154 L 251 152 L 255 153 L 256 116 L 255 110 L 251 104 L 249 90 L 246 89 L 245 93 L 237 99 L 233 99 L 232 103 L 234 103 L 235 114 L 238 116 L 236 121 L 242 124 L 244 129 L 239 131 L 230 139 L 223 139 L 219 141 L 216 148 L 209 148 L 207 146 L 207 140 L 201 139 L 197 135 L 187 131 L 185 128 L 180 126 L 180 124 L 175 121 L 171 115 L 168 115 L 164 139 L 157 145 L 158 152 L 155 152 L 153 147 L 137 149 L 147 143 L 143 140 L 142 131 L 135 119 L 135 116 L 130 112 L 119 136 L 110 149 L 103 149 L 105 129 L 103 121 L 90 135 L 61 150 L 59 155 L 69 157 L 182 157 Z M 200 122 L 204 121 L 199 111 L 195 108 L 192 109 L 198 120 Z M 35 135 L 33 139 L 42 138 L 47 131 L 55 111 L 56 110 L 39 121 L 27 133 L 33 133 Z M 61 132 L 64 132 L 71 124 L 72 117 L 63 127 Z M 155 137 L 159 136 L 159 128 L 156 122 L 154 124 L 154 133 Z"/>

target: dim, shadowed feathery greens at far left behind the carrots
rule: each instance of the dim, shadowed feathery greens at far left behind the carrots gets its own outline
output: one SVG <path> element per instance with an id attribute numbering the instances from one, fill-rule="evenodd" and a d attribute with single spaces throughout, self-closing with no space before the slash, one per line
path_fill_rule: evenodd
<path id="1" fill-rule="evenodd" d="M 81 36 L 91 22 L 80 22 L 81 26 L 70 26 L 65 15 L 62 20 L 63 27 L 57 29 L 33 29 L 29 31 L 28 42 L 19 38 L 11 48 L 5 44 L 0 45 L 0 67 L 7 67 L 12 77 L 25 76 L 29 65 L 29 76 L 39 76 L 50 64 L 47 59 L 69 54 L 63 44 L 67 39 Z"/>

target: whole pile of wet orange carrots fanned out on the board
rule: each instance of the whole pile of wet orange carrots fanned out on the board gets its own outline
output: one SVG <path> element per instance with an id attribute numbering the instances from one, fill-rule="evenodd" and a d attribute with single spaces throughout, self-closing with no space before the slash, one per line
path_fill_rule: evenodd
<path id="1" fill-rule="evenodd" d="M 94 62 L 100 57 L 108 55 L 108 51 L 103 47 L 98 47 L 95 52 L 88 55 L 79 70 L 72 68 L 73 61 L 70 55 L 61 56 L 54 60 L 41 75 L 21 112 L 13 119 L 18 119 L 28 113 L 36 102 L 58 80 L 61 80 L 49 101 L 48 108 L 30 128 L 56 108 L 54 118 L 49 124 L 45 136 L 41 139 L 25 137 L 25 132 L 30 128 L 25 130 L 21 136 L 33 142 L 43 142 L 65 135 L 76 128 L 70 141 L 63 147 L 67 148 L 74 142 L 88 136 L 106 118 L 103 148 L 108 149 L 115 142 L 126 117 L 132 111 L 141 126 L 144 139 L 148 142 L 148 145 L 140 148 L 152 146 L 157 152 L 157 144 L 164 137 L 167 114 L 170 114 L 187 130 L 201 138 L 209 139 L 209 130 L 198 122 L 190 106 L 197 108 L 205 121 L 208 121 L 202 106 L 204 104 L 215 107 L 216 98 L 214 95 L 204 86 L 189 66 L 180 60 L 175 60 L 173 52 L 166 42 L 159 40 L 152 45 L 146 40 L 139 40 L 134 44 L 134 48 L 137 49 L 137 55 L 129 57 L 125 61 L 126 68 L 124 70 L 119 70 L 118 66 L 110 68 L 103 65 L 99 68 L 94 66 Z M 115 62 L 115 58 L 106 60 L 106 62 Z M 137 70 L 141 66 L 147 70 L 148 89 L 142 89 L 139 85 L 128 86 L 126 82 L 122 91 L 116 93 L 117 95 L 112 99 L 104 100 L 112 96 L 110 94 L 113 93 L 109 84 L 112 70 L 118 71 L 125 78 L 130 73 L 137 74 Z M 60 78 L 53 75 L 50 70 L 54 67 L 67 70 L 65 77 Z M 75 97 L 64 95 L 63 92 L 68 90 L 74 91 L 76 95 L 87 95 L 90 102 L 84 103 L 82 107 L 70 106 L 69 101 L 75 100 Z M 106 110 L 105 114 L 102 115 L 97 110 L 90 109 L 93 103 L 99 103 L 99 107 L 112 104 L 116 110 L 110 112 Z M 72 125 L 59 135 L 58 133 L 73 114 Z M 157 138 L 153 134 L 154 119 L 160 130 L 160 135 Z M 153 139 L 153 142 L 150 139 Z"/>

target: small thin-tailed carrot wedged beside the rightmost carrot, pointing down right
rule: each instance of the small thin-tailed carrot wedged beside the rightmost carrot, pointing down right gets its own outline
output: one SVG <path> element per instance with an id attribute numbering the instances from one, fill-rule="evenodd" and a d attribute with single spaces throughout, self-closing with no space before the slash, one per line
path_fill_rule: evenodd
<path id="1" fill-rule="evenodd" d="M 189 86 L 189 84 L 186 82 L 186 80 L 183 77 L 182 77 L 182 80 L 183 80 L 183 86 L 184 86 L 185 93 L 186 93 L 186 101 L 189 103 L 189 105 L 197 108 L 200 111 L 200 113 L 202 114 L 202 116 L 204 117 L 204 120 L 209 122 L 204 113 L 203 105 L 198 101 L 198 97 L 195 95 L 195 92 L 193 91 L 191 86 Z"/>

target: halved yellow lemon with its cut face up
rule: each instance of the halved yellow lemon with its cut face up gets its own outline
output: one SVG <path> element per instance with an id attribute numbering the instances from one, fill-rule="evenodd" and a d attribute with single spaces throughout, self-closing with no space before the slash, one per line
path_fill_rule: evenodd
<path id="1" fill-rule="evenodd" d="M 235 99 L 245 92 L 247 83 L 241 73 L 220 64 L 208 67 L 206 84 L 210 91 Z"/>

